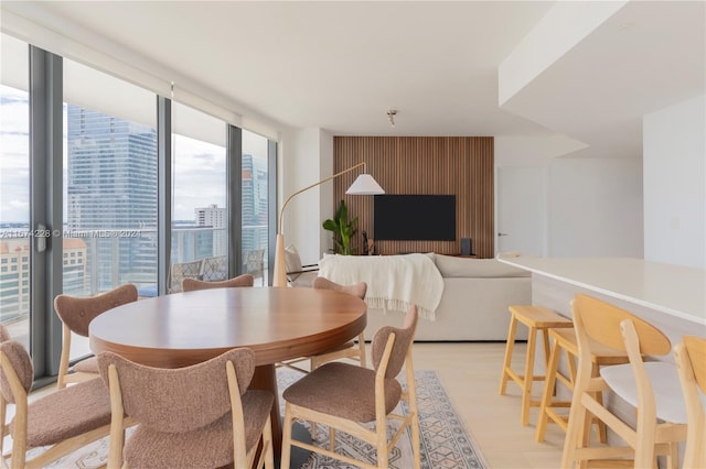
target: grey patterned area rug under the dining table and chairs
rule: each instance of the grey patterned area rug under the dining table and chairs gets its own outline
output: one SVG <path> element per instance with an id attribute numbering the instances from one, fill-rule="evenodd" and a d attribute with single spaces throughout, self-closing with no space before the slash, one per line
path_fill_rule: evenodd
<path id="1" fill-rule="evenodd" d="M 278 370 L 277 381 L 281 391 L 299 379 L 301 374 L 296 371 Z M 448 395 L 434 371 L 417 371 L 415 373 L 417 382 L 417 404 L 419 406 L 419 424 L 421 427 L 421 467 L 436 468 L 488 468 L 488 463 L 478 448 L 472 436 L 463 427 L 463 423 L 451 406 Z M 404 380 L 400 380 L 404 385 Z M 406 405 L 400 404 L 402 413 L 407 415 Z M 397 408 L 396 412 L 400 412 Z M 307 423 L 303 423 L 308 427 Z M 393 421 L 388 427 L 388 435 L 392 436 L 397 429 L 397 422 Z M 129 432 L 129 430 L 128 430 Z M 128 434 L 129 435 L 129 434 Z M 128 436 L 129 437 L 129 436 Z M 327 445 L 328 429 L 319 426 L 317 444 Z M 35 449 L 33 451 L 40 451 Z M 336 450 L 347 454 L 356 459 L 374 463 L 376 460 L 375 448 L 367 444 L 362 444 L 342 432 L 336 432 Z M 68 455 L 55 461 L 50 468 L 66 469 L 93 469 L 107 462 L 108 439 L 104 438 L 79 451 Z M 411 437 L 405 433 L 397 441 L 397 446 L 389 456 L 389 468 L 408 469 L 414 467 L 411 454 Z M 302 466 L 306 469 L 349 469 L 350 465 L 327 458 L 322 455 L 312 455 Z"/>

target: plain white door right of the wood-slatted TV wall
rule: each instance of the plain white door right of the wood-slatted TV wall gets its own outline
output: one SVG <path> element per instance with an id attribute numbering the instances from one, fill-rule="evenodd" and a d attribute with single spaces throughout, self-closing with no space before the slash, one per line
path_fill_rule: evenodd
<path id="1" fill-rule="evenodd" d="M 498 252 L 546 257 L 548 168 L 498 168 Z"/>

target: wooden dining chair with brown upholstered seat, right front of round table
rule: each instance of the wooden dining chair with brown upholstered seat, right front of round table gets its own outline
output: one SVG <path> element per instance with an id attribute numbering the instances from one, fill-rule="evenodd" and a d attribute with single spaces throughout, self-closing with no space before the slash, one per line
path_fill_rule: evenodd
<path id="1" fill-rule="evenodd" d="M 407 428 L 411 433 L 415 468 L 420 467 L 419 416 L 411 362 L 416 328 L 417 307 L 411 306 L 403 328 L 382 327 L 373 337 L 373 370 L 351 363 L 329 362 L 285 390 L 281 467 L 289 467 L 291 446 L 297 446 L 363 468 L 387 468 L 388 454 Z M 406 371 L 406 391 L 395 378 L 403 368 Z M 408 405 L 406 417 L 393 413 L 400 400 Z M 389 441 L 388 418 L 402 421 Z M 328 425 L 329 449 L 293 440 L 291 427 L 295 419 Z M 365 425 L 370 423 L 375 424 L 373 428 Z M 335 429 L 372 445 L 377 452 L 377 465 L 372 466 L 335 452 Z"/>

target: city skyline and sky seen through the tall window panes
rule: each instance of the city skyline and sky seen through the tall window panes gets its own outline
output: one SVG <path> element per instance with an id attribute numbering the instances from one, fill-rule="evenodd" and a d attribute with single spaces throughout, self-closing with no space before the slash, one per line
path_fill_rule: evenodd
<path id="1" fill-rule="evenodd" d="M 90 296 L 132 283 L 141 295 L 157 294 L 157 130 L 64 102 L 63 226 L 39 229 L 30 227 L 29 108 L 26 91 L 0 86 L 0 321 L 29 314 L 30 260 L 39 237 L 61 240 L 63 293 Z M 192 122 L 194 131 L 171 135 L 168 293 L 179 291 L 174 272 L 182 264 L 197 262 L 199 276 L 225 280 L 231 236 L 242 238 L 243 258 L 248 251 L 266 252 L 269 204 L 267 139 L 243 130 L 242 198 L 235 207 L 243 228 L 229 233 L 225 122 L 179 103 L 172 119 L 178 123 L 172 129 L 189 130 Z"/>

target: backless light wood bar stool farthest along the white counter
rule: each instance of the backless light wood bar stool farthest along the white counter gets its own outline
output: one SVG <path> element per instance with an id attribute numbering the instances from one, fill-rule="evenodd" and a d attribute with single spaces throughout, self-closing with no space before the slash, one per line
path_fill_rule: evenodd
<path id="1" fill-rule="evenodd" d="M 532 384 L 534 381 L 544 381 L 545 375 L 534 375 L 534 358 L 536 352 L 537 332 L 542 332 L 544 346 L 544 360 L 547 364 L 549 357 L 549 334 L 552 328 L 574 327 L 571 319 L 542 306 L 511 305 L 509 308 L 512 317 L 510 319 L 510 330 L 507 331 L 507 345 L 505 346 L 505 361 L 503 362 L 503 374 L 500 380 L 500 394 L 505 394 L 507 379 L 512 379 L 522 389 L 522 425 L 530 423 L 530 406 L 538 406 L 538 401 L 532 401 Z M 522 323 L 530 329 L 527 335 L 527 355 L 525 357 L 525 373 L 517 374 L 511 368 L 512 352 L 515 346 L 515 334 L 517 323 Z"/>

